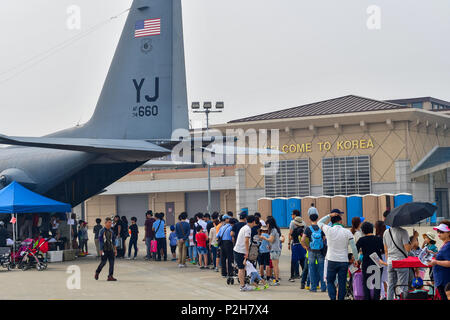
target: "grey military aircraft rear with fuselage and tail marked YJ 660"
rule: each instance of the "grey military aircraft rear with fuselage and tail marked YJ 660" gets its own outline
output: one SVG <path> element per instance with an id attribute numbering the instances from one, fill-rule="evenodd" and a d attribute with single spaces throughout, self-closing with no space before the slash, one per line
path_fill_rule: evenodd
<path id="1" fill-rule="evenodd" d="M 44 137 L 0 135 L 0 188 L 17 181 L 72 206 L 188 129 L 181 0 L 134 0 L 92 118 Z"/>

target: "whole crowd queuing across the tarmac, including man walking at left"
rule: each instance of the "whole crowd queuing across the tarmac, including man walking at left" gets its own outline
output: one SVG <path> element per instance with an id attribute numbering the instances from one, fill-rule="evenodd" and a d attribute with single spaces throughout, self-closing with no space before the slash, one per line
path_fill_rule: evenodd
<path id="1" fill-rule="evenodd" d="M 389 213 L 389 210 L 384 213 L 384 219 Z M 291 255 L 288 281 L 298 279 L 300 289 L 327 292 L 331 300 L 348 297 L 352 291 L 349 281 L 355 270 L 362 273 L 363 299 L 393 300 L 411 290 L 423 290 L 426 283 L 419 281 L 418 284 L 417 279 L 424 279 L 428 270 L 431 286 L 442 299 L 447 299 L 450 221 L 444 220 L 434 228 L 437 234 L 431 231 L 424 234 L 420 248 L 417 231 L 413 230 L 410 236 L 407 230 L 386 226 L 384 221 L 372 223 L 363 217 L 354 217 L 351 229 L 347 229 L 342 221 L 343 212 L 333 209 L 319 219 L 319 212 L 313 204 L 306 216 L 303 220 L 298 210 L 292 211 L 285 239 L 275 218 L 269 216 L 264 221 L 258 212 L 254 215 L 241 212 L 236 218 L 232 212 L 197 213 L 192 218 L 182 212 L 178 222 L 169 227 L 163 213 L 153 214 L 150 210 L 146 213 L 142 239 L 146 244 L 145 259 L 167 261 L 168 239 L 171 260 L 177 261 L 179 268 L 185 268 L 187 264 L 196 265 L 200 269 L 220 272 L 223 278 L 237 277 L 241 291 L 261 290 L 281 284 L 279 260 L 286 245 Z M 111 257 L 124 258 L 125 240 L 130 235 L 128 259 L 135 259 L 139 229 L 135 217 L 130 225 L 125 217 L 119 216 L 106 222 L 103 228 L 97 219 L 94 227 L 98 256 L 102 259 L 95 277 L 98 279 L 109 260 L 108 279 L 115 280 Z M 169 236 L 166 229 L 170 230 Z M 436 236 L 443 243 L 439 250 Z M 134 256 L 131 256 L 132 247 Z M 435 255 L 430 268 L 414 269 L 410 274 L 409 268 L 392 267 L 393 261 L 417 256 L 423 248 Z"/>

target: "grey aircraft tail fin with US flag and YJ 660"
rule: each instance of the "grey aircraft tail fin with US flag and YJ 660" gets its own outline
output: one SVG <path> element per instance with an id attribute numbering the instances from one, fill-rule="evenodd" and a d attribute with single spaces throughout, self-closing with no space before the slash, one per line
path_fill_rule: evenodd
<path id="1" fill-rule="evenodd" d="M 134 0 L 92 118 L 55 137 L 170 138 L 188 129 L 181 0 Z"/>

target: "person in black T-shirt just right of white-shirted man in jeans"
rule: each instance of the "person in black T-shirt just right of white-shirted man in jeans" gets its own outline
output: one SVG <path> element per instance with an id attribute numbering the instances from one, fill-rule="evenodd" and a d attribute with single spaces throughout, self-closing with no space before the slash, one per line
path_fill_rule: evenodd
<path id="1" fill-rule="evenodd" d="M 362 252 L 362 274 L 363 274 L 363 290 L 364 290 L 364 300 L 372 300 L 370 295 L 369 287 L 367 286 L 368 280 L 374 275 L 373 270 L 369 271 L 370 266 L 376 266 L 375 262 L 371 259 L 370 255 L 375 253 L 378 257 L 379 263 L 384 264 L 382 261 L 382 255 L 384 253 L 383 239 L 377 237 L 373 234 L 373 224 L 370 222 L 364 222 L 361 226 L 361 231 L 364 234 L 356 242 L 356 249 Z M 372 267 L 373 268 L 373 267 Z M 381 275 L 383 270 L 377 270 L 375 276 L 378 279 L 375 280 L 374 297 L 373 300 L 380 300 L 381 293 Z M 377 287 L 377 284 L 380 286 Z"/>

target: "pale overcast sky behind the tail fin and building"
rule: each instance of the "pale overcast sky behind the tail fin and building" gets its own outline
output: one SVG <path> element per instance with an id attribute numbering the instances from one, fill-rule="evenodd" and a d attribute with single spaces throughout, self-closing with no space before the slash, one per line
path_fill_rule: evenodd
<path id="1" fill-rule="evenodd" d="M 2 0 L 0 133 L 40 136 L 89 120 L 126 15 L 30 58 L 131 2 Z M 182 2 L 189 103 L 225 101 L 212 123 L 347 94 L 450 101 L 450 1 Z M 81 30 L 66 26 L 70 5 L 81 8 Z M 370 5 L 381 9 L 379 30 L 366 25 Z"/>

